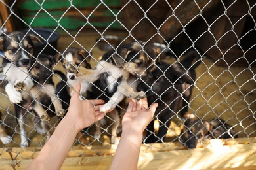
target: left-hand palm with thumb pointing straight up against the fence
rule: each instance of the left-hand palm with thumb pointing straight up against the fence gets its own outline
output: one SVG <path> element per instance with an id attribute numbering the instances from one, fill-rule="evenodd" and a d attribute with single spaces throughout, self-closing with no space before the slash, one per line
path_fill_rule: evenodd
<path id="1" fill-rule="evenodd" d="M 79 98 L 80 90 L 81 84 L 79 83 L 74 89 L 70 99 L 70 107 L 66 115 L 69 116 L 70 121 L 75 122 L 78 131 L 90 126 L 105 116 L 103 112 L 99 111 L 104 101 L 101 99 L 81 100 Z"/>

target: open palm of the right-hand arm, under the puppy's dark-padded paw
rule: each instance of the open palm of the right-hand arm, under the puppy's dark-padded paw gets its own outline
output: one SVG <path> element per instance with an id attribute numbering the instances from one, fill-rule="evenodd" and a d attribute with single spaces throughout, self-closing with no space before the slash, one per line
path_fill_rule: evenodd
<path id="1" fill-rule="evenodd" d="M 140 101 L 130 99 L 127 112 L 123 116 L 122 130 L 135 130 L 142 133 L 151 122 L 156 112 L 156 107 L 158 107 L 158 103 L 152 104 L 150 109 L 148 109 L 148 101 L 146 98 L 140 99 Z"/>

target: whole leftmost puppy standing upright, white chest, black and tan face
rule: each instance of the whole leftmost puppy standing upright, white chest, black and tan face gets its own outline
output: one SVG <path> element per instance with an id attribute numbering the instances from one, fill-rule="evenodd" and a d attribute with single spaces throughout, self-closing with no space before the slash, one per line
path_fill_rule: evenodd
<path id="1" fill-rule="evenodd" d="M 37 35 L 24 34 L 19 31 L 0 35 L 0 50 L 5 54 L 3 58 L 3 73 L 5 75 L 5 92 L 14 103 L 18 124 L 23 124 L 23 116 L 30 104 L 30 89 L 33 80 L 28 69 L 33 58 L 33 46 L 42 39 Z M 26 131 L 21 129 L 22 146 L 28 146 Z"/>

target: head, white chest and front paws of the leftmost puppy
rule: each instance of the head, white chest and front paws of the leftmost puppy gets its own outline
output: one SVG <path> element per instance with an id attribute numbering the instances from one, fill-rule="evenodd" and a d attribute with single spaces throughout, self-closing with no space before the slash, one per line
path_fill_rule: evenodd
<path id="1" fill-rule="evenodd" d="M 33 81 L 28 75 L 33 58 L 33 46 L 42 42 L 37 35 L 16 31 L 0 35 L 0 50 L 5 54 L 3 58 L 3 73 L 5 74 L 5 92 L 12 103 L 22 101 L 22 92 L 16 90 L 16 84 L 24 84 L 24 90 L 29 92 Z"/>

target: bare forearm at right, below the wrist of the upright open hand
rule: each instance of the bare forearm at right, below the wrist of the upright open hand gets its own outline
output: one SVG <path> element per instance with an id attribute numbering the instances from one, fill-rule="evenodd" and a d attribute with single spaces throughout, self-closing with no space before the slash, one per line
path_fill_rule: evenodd
<path id="1" fill-rule="evenodd" d="M 142 132 L 124 131 L 110 169 L 137 169 L 141 143 Z"/>

